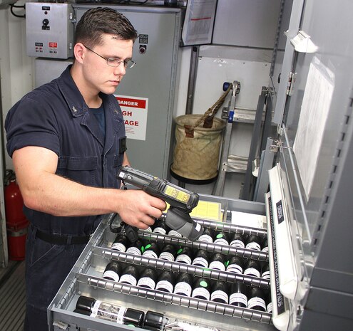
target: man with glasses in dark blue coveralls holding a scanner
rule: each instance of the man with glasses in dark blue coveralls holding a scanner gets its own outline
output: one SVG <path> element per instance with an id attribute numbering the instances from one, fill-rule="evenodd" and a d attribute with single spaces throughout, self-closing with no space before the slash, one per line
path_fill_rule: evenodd
<path id="1" fill-rule="evenodd" d="M 164 201 L 120 188 L 129 164 L 121 109 L 112 95 L 131 60 L 137 33 L 113 9 L 86 11 L 76 28 L 75 61 L 22 98 L 6 117 L 31 226 L 26 243 L 25 331 L 48 330 L 46 308 L 103 214 L 138 228 L 161 216 Z"/>

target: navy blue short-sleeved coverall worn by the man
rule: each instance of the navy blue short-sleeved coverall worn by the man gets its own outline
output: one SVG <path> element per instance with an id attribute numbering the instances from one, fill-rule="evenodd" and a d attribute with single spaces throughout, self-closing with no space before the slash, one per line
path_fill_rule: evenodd
<path id="1" fill-rule="evenodd" d="M 70 68 L 9 110 L 7 151 L 12 157 L 16 149 L 26 146 L 51 149 L 58 155 L 56 174 L 88 186 L 118 189 L 116 173 L 124 152 L 120 146 L 126 137 L 121 108 L 113 95 L 100 94 L 106 116 L 104 136 L 71 78 Z M 46 309 L 86 246 L 72 244 L 71 238 L 93 233 L 102 216 L 53 216 L 26 206 L 24 213 L 31 224 L 26 241 L 24 330 L 44 331 L 48 330 Z M 67 241 L 49 243 L 38 238 L 39 232 L 63 236 Z"/>

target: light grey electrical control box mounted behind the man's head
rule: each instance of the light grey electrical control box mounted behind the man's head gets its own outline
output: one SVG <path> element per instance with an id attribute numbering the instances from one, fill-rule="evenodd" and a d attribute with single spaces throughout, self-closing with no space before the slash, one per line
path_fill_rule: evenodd
<path id="1" fill-rule="evenodd" d="M 73 56 L 73 23 L 71 4 L 27 3 L 27 55 L 45 58 Z"/>

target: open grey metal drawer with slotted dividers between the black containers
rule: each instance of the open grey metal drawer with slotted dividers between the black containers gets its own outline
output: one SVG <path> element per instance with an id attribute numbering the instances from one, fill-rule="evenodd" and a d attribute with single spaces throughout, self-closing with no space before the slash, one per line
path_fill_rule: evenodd
<path id="1" fill-rule="evenodd" d="M 212 228 L 214 231 L 222 230 L 224 233 L 239 232 L 245 236 L 255 234 L 262 240 L 267 238 L 265 205 L 249 201 L 230 200 L 216 196 L 200 196 L 203 201 L 217 201 L 222 209 L 222 222 L 195 219 L 204 228 Z M 268 209 L 268 207 L 267 207 Z M 235 213 L 235 214 L 234 214 Z M 239 215 L 247 218 L 250 216 L 260 227 L 244 226 L 244 219 L 237 224 Z M 76 265 L 69 273 L 65 282 L 58 291 L 56 297 L 48 308 L 48 321 L 51 330 L 130 330 L 131 325 L 119 324 L 116 321 L 104 320 L 96 315 L 83 315 L 75 312 L 78 298 L 94 298 L 116 307 L 133 308 L 144 313 L 148 311 L 158 312 L 165 317 L 163 326 L 159 329 L 149 329 L 140 326 L 143 330 L 275 330 L 272 313 L 257 309 L 242 308 L 230 303 L 220 303 L 192 296 L 166 293 L 161 290 L 143 288 L 137 285 L 120 283 L 103 278 L 103 273 L 110 261 L 118 261 L 124 266 L 135 266 L 139 271 L 145 268 L 152 268 L 161 273 L 168 270 L 175 275 L 188 273 L 195 278 L 204 278 L 215 282 L 220 280 L 227 284 L 229 289 L 232 283 L 240 282 L 247 285 L 247 289 L 260 288 L 263 293 L 273 299 L 278 296 L 272 285 L 272 279 L 261 278 L 260 276 L 248 275 L 245 273 L 234 273 L 227 270 L 214 268 L 203 268 L 190 264 L 165 261 L 160 258 L 138 256 L 131 253 L 111 249 L 112 243 L 117 234 L 111 231 L 109 226 L 110 216 L 106 216 L 96 229 L 88 245 L 84 249 Z M 119 221 L 116 217 L 115 221 Z M 243 261 L 255 260 L 261 266 L 269 263 L 271 253 L 257 251 L 255 249 L 240 248 L 220 243 L 207 243 L 205 241 L 189 241 L 183 237 L 168 236 L 160 233 L 138 231 L 138 236 L 145 242 L 155 242 L 158 245 L 172 244 L 175 247 L 190 247 L 193 251 L 202 249 L 208 252 L 209 256 L 221 253 L 222 256 L 239 256 Z M 272 238 L 272 237 L 271 237 Z M 273 244 L 269 243 L 270 249 Z M 272 263 L 270 262 L 270 270 Z M 275 280 L 275 270 L 271 270 Z M 275 299 L 276 300 L 276 299 Z M 282 300 L 282 297 L 280 298 Z M 276 305 L 277 306 L 277 305 Z M 277 310 L 275 309 L 276 314 Z M 282 323 L 283 324 L 283 323 Z M 176 326 L 175 326 L 176 325 Z M 178 327 L 179 325 L 179 327 Z M 183 325 L 183 328 L 180 327 Z M 277 325 L 276 325 L 277 326 Z M 135 327 L 138 329 L 138 327 Z M 287 329 L 287 326 L 286 326 Z M 282 327 L 282 330 L 285 330 Z"/>

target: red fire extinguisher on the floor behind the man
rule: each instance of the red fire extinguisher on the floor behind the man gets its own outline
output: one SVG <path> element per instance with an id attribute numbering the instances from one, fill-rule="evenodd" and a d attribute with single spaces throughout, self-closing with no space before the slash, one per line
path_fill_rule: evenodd
<path id="1" fill-rule="evenodd" d="M 10 260 L 24 260 L 26 253 L 26 236 L 29 221 L 24 216 L 24 199 L 22 199 L 16 175 L 6 170 L 5 177 L 5 212 L 6 230 Z"/>

